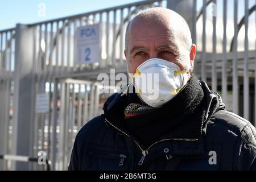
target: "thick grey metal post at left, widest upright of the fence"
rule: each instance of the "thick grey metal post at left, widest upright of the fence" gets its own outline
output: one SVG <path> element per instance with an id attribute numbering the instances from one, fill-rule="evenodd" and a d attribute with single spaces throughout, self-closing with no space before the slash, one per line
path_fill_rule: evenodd
<path id="1" fill-rule="evenodd" d="M 33 28 L 16 26 L 14 73 L 13 155 L 30 154 L 30 126 L 34 113 Z M 26 66 L 24 66 L 26 65 Z M 28 164 L 16 163 L 15 169 L 27 170 Z"/>

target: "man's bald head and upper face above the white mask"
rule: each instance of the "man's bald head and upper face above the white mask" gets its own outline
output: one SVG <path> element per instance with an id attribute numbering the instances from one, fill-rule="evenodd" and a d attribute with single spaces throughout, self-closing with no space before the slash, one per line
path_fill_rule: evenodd
<path id="1" fill-rule="evenodd" d="M 152 58 L 171 61 L 189 73 L 193 71 L 196 46 L 187 22 L 172 10 L 155 7 L 137 14 L 127 26 L 125 47 L 130 73 Z"/>

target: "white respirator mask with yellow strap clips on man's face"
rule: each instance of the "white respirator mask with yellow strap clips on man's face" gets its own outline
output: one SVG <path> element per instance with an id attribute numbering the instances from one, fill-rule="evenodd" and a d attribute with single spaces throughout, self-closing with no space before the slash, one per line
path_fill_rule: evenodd
<path id="1" fill-rule="evenodd" d="M 133 74 L 133 85 L 147 105 L 161 107 L 187 84 L 189 71 L 181 71 L 170 61 L 153 58 L 144 61 Z"/>

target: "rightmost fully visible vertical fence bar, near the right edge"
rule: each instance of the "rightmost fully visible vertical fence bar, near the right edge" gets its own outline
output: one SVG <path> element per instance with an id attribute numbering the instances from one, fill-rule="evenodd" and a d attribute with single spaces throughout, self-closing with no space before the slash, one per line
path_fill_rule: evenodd
<path id="1" fill-rule="evenodd" d="M 249 2 L 245 0 L 245 59 L 243 61 L 243 117 L 249 120 L 249 67 L 248 67 Z"/>

